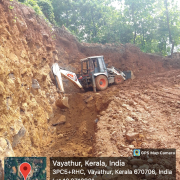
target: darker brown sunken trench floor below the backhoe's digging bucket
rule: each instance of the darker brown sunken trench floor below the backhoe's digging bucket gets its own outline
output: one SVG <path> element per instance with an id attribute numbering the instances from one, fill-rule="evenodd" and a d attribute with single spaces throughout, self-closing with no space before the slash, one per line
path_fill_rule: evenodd
<path id="1" fill-rule="evenodd" d="M 49 146 L 44 150 L 50 156 L 94 156 L 95 129 L 98 114 L 110 103 L 105 92 L 69 94 L 68 109 L 54 107 L 49 125 L 54 129 Z"/>

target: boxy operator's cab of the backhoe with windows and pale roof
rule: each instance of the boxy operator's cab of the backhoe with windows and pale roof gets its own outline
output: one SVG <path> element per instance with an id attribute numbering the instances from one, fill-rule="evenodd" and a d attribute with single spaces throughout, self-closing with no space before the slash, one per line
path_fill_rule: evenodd
<path id="1" fill-rule="evenodd" d="M 82 76 L 98 76 L 104 74 L 108 77 L 106 64 L 103 56 L 93 56 L 81 60 L 81 75 Z"/>

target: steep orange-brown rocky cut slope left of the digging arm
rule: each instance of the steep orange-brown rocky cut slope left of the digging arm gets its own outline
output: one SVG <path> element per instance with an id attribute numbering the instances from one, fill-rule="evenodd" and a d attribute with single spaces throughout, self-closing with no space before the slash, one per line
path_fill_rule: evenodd
<path id="1" fill-rule="evenodd" d="M 0 1 L 0 159 L 38 156 L 48 141 L 58 96 L 49 76 L 56 55 L 50 30 L 31 8 Z"/>

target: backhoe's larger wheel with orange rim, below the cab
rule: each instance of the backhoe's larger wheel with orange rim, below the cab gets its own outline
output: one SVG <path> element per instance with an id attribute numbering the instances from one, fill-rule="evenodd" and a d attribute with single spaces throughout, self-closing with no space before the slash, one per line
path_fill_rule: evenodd
<path id="1" fill-rule="evenodd" d="M 99 75 L 95 79 L 96 89 L 99 91 L 103 91 L 108 87 L 108 79 L 104 75 Z"/>

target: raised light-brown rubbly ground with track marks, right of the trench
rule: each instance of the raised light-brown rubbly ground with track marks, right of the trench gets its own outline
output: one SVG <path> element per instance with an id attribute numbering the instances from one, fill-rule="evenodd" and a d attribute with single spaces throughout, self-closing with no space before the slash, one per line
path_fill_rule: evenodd
<path id="1" fill-rule="evenodd" d="M 132 148 L 177 149 L 179 174 L 180 71 L 127 81 L 100 117 L 96 156 L 131 156 Z M 138 136 L 130 141 L 128 134 Z"/>

